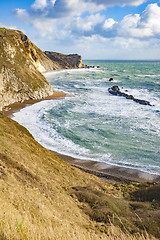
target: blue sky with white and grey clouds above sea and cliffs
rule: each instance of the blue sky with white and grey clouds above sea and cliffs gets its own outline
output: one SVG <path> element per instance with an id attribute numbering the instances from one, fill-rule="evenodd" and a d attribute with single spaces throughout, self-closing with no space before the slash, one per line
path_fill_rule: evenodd
<path id="1" fill-rule="evenodd" d="M 160 0 L 1 0 L 0 27 L 85 60 L 160 59 Z"/>

